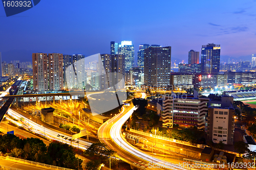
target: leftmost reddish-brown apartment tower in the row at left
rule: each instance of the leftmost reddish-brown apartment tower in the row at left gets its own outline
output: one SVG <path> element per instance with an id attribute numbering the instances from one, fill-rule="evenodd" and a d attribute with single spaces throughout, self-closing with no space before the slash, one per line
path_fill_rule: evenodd
<path id="1" fill-rule="evenodd" d="M 35 91 L 47 91 L 48 87 L 48 56 L 46 53 L 33 53 L 33 87 Z"/>

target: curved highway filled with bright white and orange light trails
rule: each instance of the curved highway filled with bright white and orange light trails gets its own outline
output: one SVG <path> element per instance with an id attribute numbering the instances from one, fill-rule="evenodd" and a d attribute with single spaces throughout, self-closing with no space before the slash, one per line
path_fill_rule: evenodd
<path id="1" fill-rule="evenodd" d="M 145 98 L 145 93 L 143 93 L 143 97 Z M 108 145 L 108 147 L 117 152 L 117 155 L 120 155 L 120 159 L 125 162 L 139 168 L 145 169 L 177 169 L 177 170 L 185 170 L 182 166 L 177 166 L 170 162 L 166 162 L 160 160 L 159 158 L 152 157 L 148 155 L 132 144 L 127 142 L 124 137 L 121 135 L 122 125 L 126 122 L 126 120 L 132 115 L 133 111 L 136 110 L 135 107 L 132 107 L 126 111 L 123 111 L 109 119 L 98 129 L 98 138 L 102 143 Z M 154 165 L 163 165 L 162 168 L 153 167 Z"/>

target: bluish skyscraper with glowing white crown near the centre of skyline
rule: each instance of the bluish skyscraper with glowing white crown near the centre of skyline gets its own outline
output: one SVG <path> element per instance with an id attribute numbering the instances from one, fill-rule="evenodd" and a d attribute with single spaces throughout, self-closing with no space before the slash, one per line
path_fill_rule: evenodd
<path id="1" fill-rule="evenodd" d="M 132 41 L 122 41 L 118 45 L 118 54 L 124 55 L 125 60 L 125 71 L 129 71 L 134 67 L 134 45 Z"/>

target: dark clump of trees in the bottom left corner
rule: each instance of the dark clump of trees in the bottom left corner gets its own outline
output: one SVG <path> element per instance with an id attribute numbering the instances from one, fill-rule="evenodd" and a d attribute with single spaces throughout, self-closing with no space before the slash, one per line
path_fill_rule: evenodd
<path id="1" fill-rule="evenodd" d="M 13 134 L 0 135 L 0 151 L 8 156 L 27 159 L 66 168 L 77 169 L 77 158 L 73 147 L 59 142 L 48 147 L 38 138 L 20 139 Z M 79 169 L 82 160 L 79 159 Z"/>

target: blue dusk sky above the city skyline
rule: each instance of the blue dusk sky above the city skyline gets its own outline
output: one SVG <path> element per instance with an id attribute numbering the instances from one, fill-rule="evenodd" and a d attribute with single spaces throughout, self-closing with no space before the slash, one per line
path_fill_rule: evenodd
<path id="1" fill-rule="evenodd" d="M 172 46 L 172 58 L 221 44 L 221 56 L 256 53 L 256 1 L 41 0 L 6 17 L 0 5 L 2 61 L 32 61 L 32 53 L 110 53 L 110 41 Z"/>

